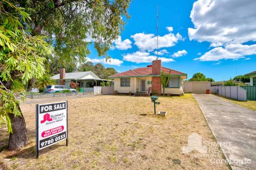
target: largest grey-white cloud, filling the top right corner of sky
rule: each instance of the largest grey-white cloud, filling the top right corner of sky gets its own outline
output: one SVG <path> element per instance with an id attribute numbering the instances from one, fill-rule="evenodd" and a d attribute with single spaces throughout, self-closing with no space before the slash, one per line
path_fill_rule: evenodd
<path id="1" fill-rule="evenodd" d="M 199 0 L 194 2 L 188 28 L 190 40 L 208 41 L 212 46 L 256 41 L 255 0 Z"/>

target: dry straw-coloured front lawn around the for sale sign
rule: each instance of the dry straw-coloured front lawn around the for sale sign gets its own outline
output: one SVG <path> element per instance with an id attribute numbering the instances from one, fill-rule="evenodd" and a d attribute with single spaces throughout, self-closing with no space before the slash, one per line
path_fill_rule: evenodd
<path id="1" fill-rule="evenodd" d="M 210 162 L 223 155 L 191 94 L 159 101 L 157 111 L 167 111 L 166 118 L 154 115 L 149 97 L 70 98 L 69 146 L 63 141 L 43 149 L 37 160 L 35 104 L 22 104 L 29 145 L 3 150 L 8 135 L 2 126 L 0 169 L 229 169 Z M 209 143 L 207 154 L 182 153 L 192 133 Z"/>

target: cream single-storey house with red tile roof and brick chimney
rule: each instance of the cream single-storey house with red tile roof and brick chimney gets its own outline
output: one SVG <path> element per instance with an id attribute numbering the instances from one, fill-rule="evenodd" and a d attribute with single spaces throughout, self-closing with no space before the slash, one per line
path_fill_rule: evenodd
<path id="1" fill-rule="evenodd" d="M 162 67 L 161 60 L 154 60 L 152 65 L 147 67 L 114 74 L 108 78 L 114 79 L 114 90 L 117 90 L 119 93 L 151 93 L 156 91 L 157 95 L 161 95 L 163 93 L 160 77 L 161 71 L 167 74 L 171 71 L 171 77 L 164 93 L 183 95 L 183 80 L 187 79 L 187 74 Z"/>

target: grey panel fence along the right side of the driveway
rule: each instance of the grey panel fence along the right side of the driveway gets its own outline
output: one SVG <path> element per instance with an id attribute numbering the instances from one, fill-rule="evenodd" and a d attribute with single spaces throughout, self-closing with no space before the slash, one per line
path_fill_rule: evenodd
<path id="1" fill-rule="evenodd" d="M 246 90 L 240 86 L 216 86 L 218 95 L 247 101 Z"/>

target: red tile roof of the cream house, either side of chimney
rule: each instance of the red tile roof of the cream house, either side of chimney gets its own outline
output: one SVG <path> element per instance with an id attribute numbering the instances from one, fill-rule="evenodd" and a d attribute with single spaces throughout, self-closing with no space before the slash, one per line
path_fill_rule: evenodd
<path id="1" fill-rule="evenodd" d="M 162 71 L 164 73 L 169 73 L 169 71 L 171 70 L 171 74 L 185 74 L 179 71 L 175 71 L 166 67 L 162 67 Z M 149 65 L 148 67 L 141 67 L 141 68 L 136 68 L 134 70 L 129 70 L 123 73 L 117 73 L 114 75 L 111 75 L 109 78 L 115 78 L 115 77 L 133 77 L 133 76 L 139 76 L 139 75 L 152 75 L 152 66 Z"/>

